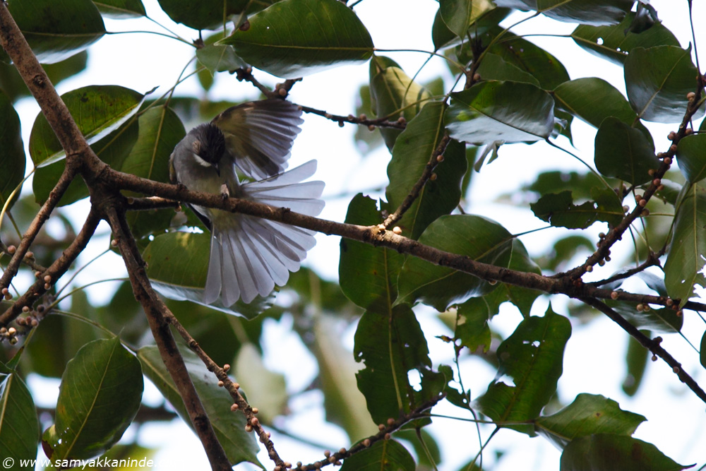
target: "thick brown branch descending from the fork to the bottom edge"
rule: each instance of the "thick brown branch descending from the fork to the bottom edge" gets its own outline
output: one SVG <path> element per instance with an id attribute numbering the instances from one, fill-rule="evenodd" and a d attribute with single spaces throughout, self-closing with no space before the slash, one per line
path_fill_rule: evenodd
<path id="1" fill-rule="evenodd" d="M 198 398 L 196 388 L 189 377 L 189 371 L 186 370 L 184 359 L 181 357 L 177 343 L 172 336 L 172 331 L 169 330 L 169 324 L 175 321 L 174 315 L 164 305 L 162 299 L 157 296 L 157 293 L 152 290 L 150 280 L 145 273 L 145 261 L 140 256 L 140 251 L 130 233 L 124 213 L 113 207 L 107 210 L 107 217 L 125 261 L 135 298 L 143 306 L 152 330 L 152 336 L 160 350 L 162 362 L 167 366 L 167 371 L 177 386 L 181 400 L 184 401 L 193 429 L 208 456 L 211 469 L 229 471 L 231 470 L 229 460 L 215 435 L 201 399 Z"/>

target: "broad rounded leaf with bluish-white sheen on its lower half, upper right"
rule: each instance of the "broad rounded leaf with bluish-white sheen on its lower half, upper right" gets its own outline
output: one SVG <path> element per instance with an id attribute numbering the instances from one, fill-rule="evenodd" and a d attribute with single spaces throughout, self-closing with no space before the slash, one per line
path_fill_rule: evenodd
<path id="1" fill-rule="evenodd" d="M 635 47 L 625 61 L 624 71 L 630 106 L 641 119 L 681 122 L 688 105 L 686 95 L 697 87 L 691 48 Z M 703 114 L 700 109 L 693 119 Z"/>

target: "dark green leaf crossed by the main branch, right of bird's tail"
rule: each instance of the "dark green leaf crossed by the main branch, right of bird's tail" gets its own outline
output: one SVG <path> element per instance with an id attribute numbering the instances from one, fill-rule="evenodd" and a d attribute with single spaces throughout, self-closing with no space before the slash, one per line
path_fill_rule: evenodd
<path id="1" fill-rule="evenodd" d="M 374 200 L 359 193 L 348 205 L 348 224 L 377 225 L 382 222 Z M 341 239 L 338 278 L 341 290 L 363 309 L 385 312 L 397 299 L 397 275 L 404 257 L 394 250 Z"/>

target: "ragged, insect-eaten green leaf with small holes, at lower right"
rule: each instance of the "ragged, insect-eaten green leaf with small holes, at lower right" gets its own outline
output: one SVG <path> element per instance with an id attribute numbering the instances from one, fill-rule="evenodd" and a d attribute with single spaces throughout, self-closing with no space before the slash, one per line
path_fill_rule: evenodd
<path id="1" fill-rule="evenodd" d="M 563 352 L 571 336 L 571 323 L 566 317 L 546 310 L 544 317 L 525 319 L 515 332 L 498 347 L 498 378 L 477 400 L 481 412 L 503 425 L 503 422 L 526 422 L 536 419 L 542 407 L 556 392 L 561 376 Z M 501 376 L 513 378 L 513 385 Z M 534 435 L 534 426 L 507 427 Z"/>

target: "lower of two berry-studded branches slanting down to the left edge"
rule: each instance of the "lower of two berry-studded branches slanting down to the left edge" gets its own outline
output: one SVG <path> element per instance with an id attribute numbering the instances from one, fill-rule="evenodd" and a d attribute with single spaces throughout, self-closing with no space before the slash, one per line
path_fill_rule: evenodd
<path id="1" fill-rule="evenodd" d="M 88 245 L 95 228 L 98 227 L 100 222 L 100 217 L 97 212 L 91 210 L 88 213 L 88 217 L 83 223 L 83 228 L 78 232 L 76 239 L 73 239 L 71 245 L 61 254 L 59 258 L 49 266 L 47 270 L 40 273 L 37 277 L 35 284 L 30 286 L 29 290 L 20 296 L 16 302 L 12 304 L 3 314 L 0 315 L 0 326 L 7 326 L 8 323 L 13 321 L 17 316 L 19 316 L 25 306 L 28 309 L 32 308 L 32 304 L 47 290 L 51 285 L 53 285 L 56 280 L 61 278 L 61 275 L 66 273 L 66 270 L 71 266 L 71 263 L 76 260 L 78 255 L 85 249 Z"/>

